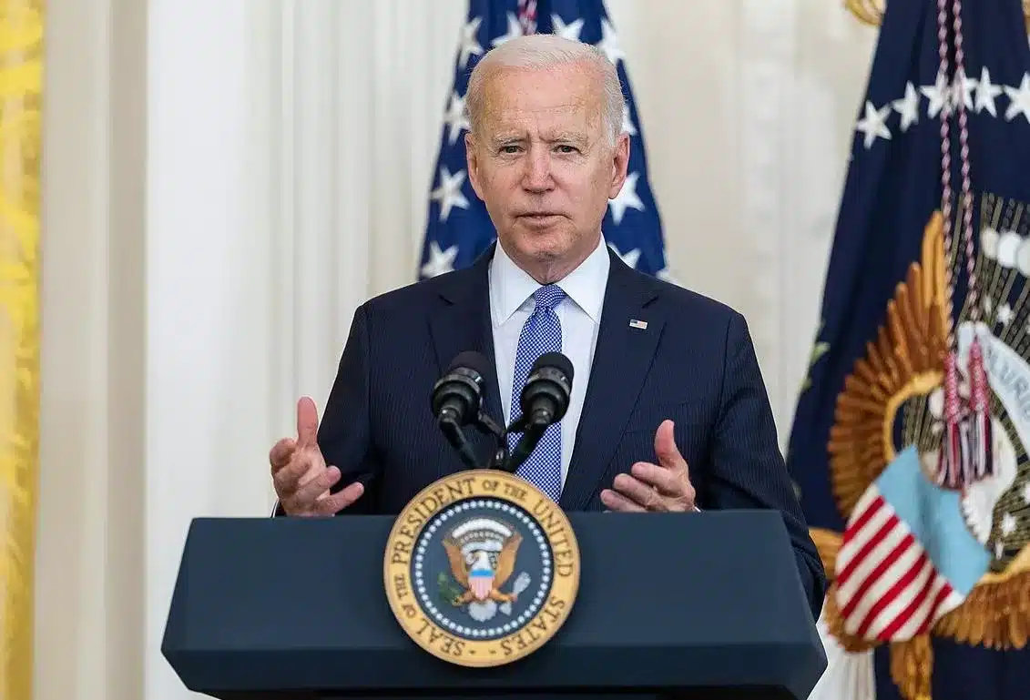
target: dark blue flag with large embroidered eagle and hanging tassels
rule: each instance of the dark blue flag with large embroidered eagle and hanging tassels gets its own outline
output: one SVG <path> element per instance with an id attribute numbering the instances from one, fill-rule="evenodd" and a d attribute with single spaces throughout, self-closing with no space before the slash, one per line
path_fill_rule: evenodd
<path id="1" fill-rule="evenodd" d="M 1030 48 L 941 7 L 887 2 L 790 436 L 820 700 L 1030 697 Z"/>

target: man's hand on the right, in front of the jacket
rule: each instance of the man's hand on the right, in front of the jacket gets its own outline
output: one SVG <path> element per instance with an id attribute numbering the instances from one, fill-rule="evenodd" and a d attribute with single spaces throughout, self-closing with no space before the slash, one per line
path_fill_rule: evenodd
<path id="1" fill-rule="evenodd" d="M 615 478 L 613 489 L 600 492 L 600 500 L 612 511 L 685 513 L 696 510 L 696 493 L 690 484 L 687 460 L 676 447 L 673 421 L 662 421 L 654 433 L 658 463 L 637 462 L 630 474 Z"/>

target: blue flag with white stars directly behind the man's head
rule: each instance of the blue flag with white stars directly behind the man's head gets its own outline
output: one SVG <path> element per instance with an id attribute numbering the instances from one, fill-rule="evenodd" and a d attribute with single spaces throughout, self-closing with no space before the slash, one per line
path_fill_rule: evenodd
<path id="1" fill-rule="evenodd" d="M 419 279 L 469 266 L 496 238 L 486 207 L 469 183 L 465 95 L 472 69 L 486 51 L 511 38 L 536 32 L 593 44 L 615 64 L 626 101 L 622 129 L 630 139 L 629 166 L 621 191 L 609 201 L 602 231 L 609 246 L 627 265 L 672 279 L 626 56 L 604 0 L 470 0 L 468 18 L 459 32 L 454 81 L 444 110 Z"/>

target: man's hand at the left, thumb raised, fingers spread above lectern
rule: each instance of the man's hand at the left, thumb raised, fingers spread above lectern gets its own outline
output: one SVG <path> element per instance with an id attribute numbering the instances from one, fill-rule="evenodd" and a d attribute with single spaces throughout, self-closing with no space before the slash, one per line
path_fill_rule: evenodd
<path id="1" fill-rule="evenodd" d="M 305 396 L 297 402 L 297 439 L 283 437 L 268 455 L 275 493 L 288 516 L 332 516 L 365 492 L 365 486 L 355 482 L 339 493 L 330 493 L 340 481 L 340 469 L 325 466 L 317 435 L 318 410 Z"/>

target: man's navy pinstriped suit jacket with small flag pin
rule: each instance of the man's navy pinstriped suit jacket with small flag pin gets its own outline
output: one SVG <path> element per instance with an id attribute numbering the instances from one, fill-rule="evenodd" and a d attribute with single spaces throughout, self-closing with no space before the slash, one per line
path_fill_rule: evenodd
<path id="1" fill-rule="evenodd" d="M 323 412 L 327 464 L 365 494 L 341 513 L 397 514 L 431 482 L 465 467 L 437 428 L 433 385 L 464 350 L 494 366 L 487 270 L 472 267 L 368 301 L 353 317 Z M 600 490 L 638 460 L 656 461 L 665 418 L 687 460 L 697 504 L 777 509 L 818 618 L 826 580 L 784 465 L 747 323 L 732 309 L 640 273 L 611 254 L 600 330 L 560 504 L 602 511 Z M 629 320 L 647 321 L 646 329 Z M 576 380 L 574 380 L 576 381 Z M 499 422 L 496 378 L 485 409 Z M 470 431 L 484 459 L 490 445 Z"/>

